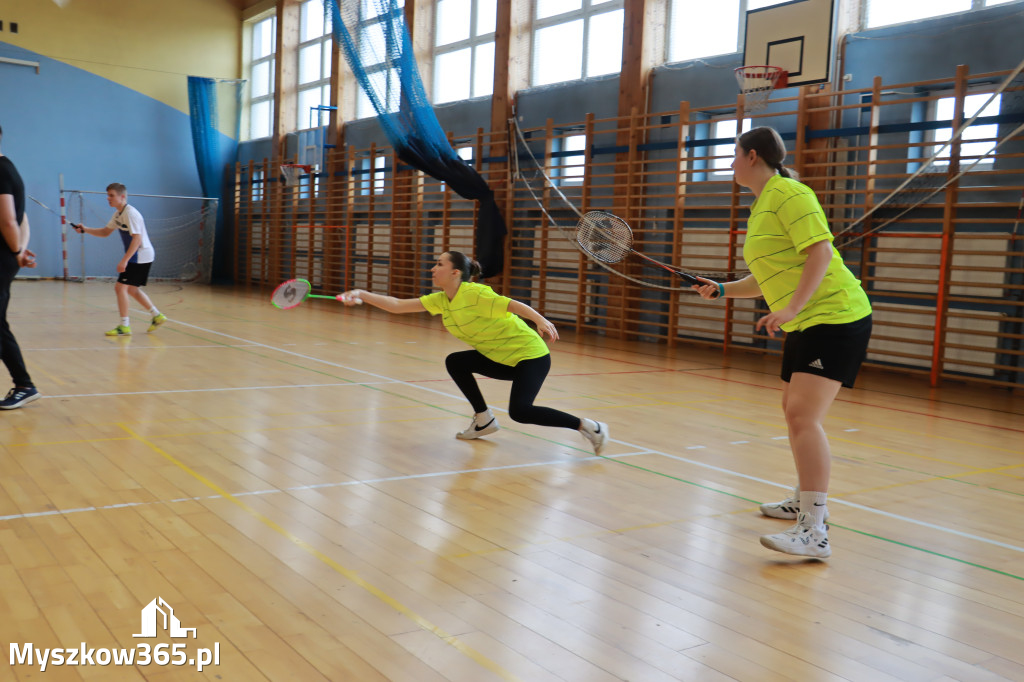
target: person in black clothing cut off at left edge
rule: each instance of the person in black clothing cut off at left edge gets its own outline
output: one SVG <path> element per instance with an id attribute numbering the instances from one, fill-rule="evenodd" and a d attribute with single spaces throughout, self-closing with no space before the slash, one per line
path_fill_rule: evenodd
<path id="1" fill-rule="evenodd" d="M 0 141 L 3 129 L 0 129 Z M 0 400 L 0 410 L 14 410 L 39 398 L 22 358 L 22 349 L 7 324 L 10 284 L 23 267 L 36 266 L 29 249 L 29 216 L 25 215 L 25 183 L 10 159 L 0 153 L 0 358 L 7 366 L 14 387 Z"/>

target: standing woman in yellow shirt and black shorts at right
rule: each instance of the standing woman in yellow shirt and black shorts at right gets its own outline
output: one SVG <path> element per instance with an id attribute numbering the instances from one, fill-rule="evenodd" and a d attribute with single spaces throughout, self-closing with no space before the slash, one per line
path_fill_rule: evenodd
<path id="1" fill-rule="evenodd" d="M 797 519 L 784 532 L 761 537 L 779 552 L 831 555 L 825 519 L 831 453 L 822 421 L 842 386 L 852 387 L 867 354 L 871 305 L 860 282 L 833 247 L 833 235 L 814 191 L 782 166 L 785 145 L 772 128 L 736 140 L 735 181 L 754 193 L 743 260 L 751 274 L 737 282 L 694 286 L 702 298 L 763 296 L 770 312 L 755 328 L 782 350 L 782 412 L 799 484 L 792 497 L 761 505 L 774 518 Z"/>

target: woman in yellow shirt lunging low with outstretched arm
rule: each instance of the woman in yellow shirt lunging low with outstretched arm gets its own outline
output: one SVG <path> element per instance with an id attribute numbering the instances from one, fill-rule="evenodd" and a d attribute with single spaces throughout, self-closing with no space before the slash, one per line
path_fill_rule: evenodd
<path id="1" fill-rule="evenodd" d="M 464 440 L 498 430 L 498 419 L 487 408 L 474 374 L 511 381 L 509 417 L 524 424 L 575 429 L 601 454 L 608 440 L 608 425 L 581 419 L 551 408 L 534 404 L 551 370 L 551 352 L 540 334 L 522 317 L 537 325 L 541 334 L 558 339 L 555 326 L 540 312 L 519 301 L 499 296 L 490 287 L 471 282 L 480 265 L 459 251 L 442 253 L 430 268 L 434 286 L 440 289 L 419 298 L 397 299 L 353 289 L 339 296 L 346 305 L 366 301 L 388 312 L 440 314 L 444 328 L 473 350 L 452 353 L 444 365 L 463 395 L 473 407 L 473 420 L 456 434 Z"/>

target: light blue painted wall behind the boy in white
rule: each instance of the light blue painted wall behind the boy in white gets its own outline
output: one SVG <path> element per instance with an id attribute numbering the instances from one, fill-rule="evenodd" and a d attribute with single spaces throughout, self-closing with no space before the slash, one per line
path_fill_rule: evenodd
<path id="1" fill-rule="evenodd" d="M 0 63 L 0 150 L 17 166 L 27 195 L 59 212 L 58 176 L 62 173 L 66 188 L 102 191 L 111 182 L 124 183 L 129 202 L 153 223 L 199 207 L 198 202 L 131 198 L 132 193 L 202 195 L 188 115 L 9 43 L 0 42 L 0 54 L 40 62 L 38 74 L 29 67 Z M 186 89 L 184 76 L 181 88 Z M 222 148 L 233 152 L 234 140 L 221 135 L 221 142 Z M 92 196 L 89 201 L 101 207 L 104 220 L 113 213 L 105 198 Z M 61 276 L 59 218 L 31 200 L 27 200 L 27 211 L 39 266 L 22 274 Z M 95 224 L 94 220 L 88 224 Z M 81 269 L 74 253 L 80 239 L 69 235 L 73 273 Z M 90 263 L 103 264 L 114 276 L 123 253 L 120 241 L 90 238 L 84 244 Z"/>

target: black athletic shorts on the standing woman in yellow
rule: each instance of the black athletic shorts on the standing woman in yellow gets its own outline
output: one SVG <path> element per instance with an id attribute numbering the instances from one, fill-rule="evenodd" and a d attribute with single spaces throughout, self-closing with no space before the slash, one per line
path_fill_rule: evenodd
<path id="1" fill-rule="evenodd" d="M 788 382 L 794 372 L 804 372 L 853 388 L 870 338 L 871 315 L 843 325 L 815 325 L 790 332 L 782 347 L 782 381 Z"/>

